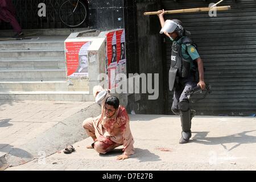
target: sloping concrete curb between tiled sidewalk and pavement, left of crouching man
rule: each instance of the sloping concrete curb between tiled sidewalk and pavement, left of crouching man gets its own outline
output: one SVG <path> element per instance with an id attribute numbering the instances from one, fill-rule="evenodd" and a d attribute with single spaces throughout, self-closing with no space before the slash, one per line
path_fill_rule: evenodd
<path id="1" fill-rule="evenodd" d="M 36 138 L 5 154 L 3 162 L 0 162 L 0 167 L 3 166 L 1 168 L 4 170 L 7 167 L 20 166 L 34 159 L 55 154 L 57 151 L 63 150 L 67 144 L 87 138 L 88 136 L 82 128 L 82 121 L 89 117 L 97 117 L 100 113 L 101 107 L 97 104 L 81 109 Z"/>

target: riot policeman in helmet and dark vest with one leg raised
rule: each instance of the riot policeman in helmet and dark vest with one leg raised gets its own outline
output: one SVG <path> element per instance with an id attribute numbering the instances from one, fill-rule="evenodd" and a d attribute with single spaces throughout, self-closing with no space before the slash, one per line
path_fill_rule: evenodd
<path id="1" fill-rule="evenodd" d="M 171 110 L 180 115 L 181 138 L 179 143 L 188 143 L 191 138 L 191 119 L 195 110 L 191 110 L 189 99 L 185 92 L 196 85 L 205 88 L 204 66 L 192 40 L 190 32 L 185 30 L 182 22 L 177 19 L 164 20 L 164 10 L 159 11 L 159 20 L 162 26 L 160 34 L 165 34 L 172 43 L 171 68 L 169 71 L 169 89 L 174 90 L 174 99 Z"/>

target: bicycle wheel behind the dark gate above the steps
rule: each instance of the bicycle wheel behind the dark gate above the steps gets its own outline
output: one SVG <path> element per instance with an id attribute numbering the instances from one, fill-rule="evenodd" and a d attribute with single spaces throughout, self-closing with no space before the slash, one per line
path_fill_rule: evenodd
<path id="1" fill-rule="evenodd" d="M 61 4 L 59 9 L 61 22 L 69 27 L 80 26 L 84 23 L 86 16 L 86 6 L 81 1 L 67 0 Z"/>

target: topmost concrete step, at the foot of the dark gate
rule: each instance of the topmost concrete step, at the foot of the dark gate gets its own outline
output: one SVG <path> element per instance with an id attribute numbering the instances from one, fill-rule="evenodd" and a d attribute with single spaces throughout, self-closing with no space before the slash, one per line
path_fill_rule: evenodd
<path id="1" fill-rule="evenodd" d="M 26 35 L 37 33 L 36 35 L 70 35 L 73 32 L 80 32 L 90 30 L 90 28 L 55 28 L 55 29 L 32 29 L 32 30 L 22 30 Z M 0 36 L 13 36 L 15 32 L 13 30 L 1 30 Z M 36 36 L 33 35 L 33 36 Z"/>

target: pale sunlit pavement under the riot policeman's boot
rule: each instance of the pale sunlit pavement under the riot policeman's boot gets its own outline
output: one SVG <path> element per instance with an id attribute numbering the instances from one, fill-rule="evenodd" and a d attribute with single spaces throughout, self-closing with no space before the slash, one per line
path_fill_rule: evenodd
<path id="1" fill-rule="evenodd" d="M 256 118 L 204 117 L 192 121 L 192 140 L 179 144 L 180 120 L 173 115 L 130 115 L 135 154 L 117 161 L 121 147 L 99 155 L 74 144 L 76 152 L 56 152 L 47 158 L 7 170 L 255 170 Z"/>

